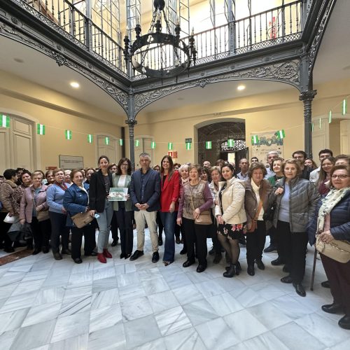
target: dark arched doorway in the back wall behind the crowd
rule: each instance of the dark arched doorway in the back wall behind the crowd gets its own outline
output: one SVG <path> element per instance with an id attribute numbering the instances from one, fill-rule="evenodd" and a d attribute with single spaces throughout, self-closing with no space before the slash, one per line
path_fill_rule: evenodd
<path id="1" fill-rule="evenodd" d="M 198 128 L 197 131 L 200 164 L 209 160 L 214 165 L 216 160 L 223 159 L 235 163 L 237 169 L 239 160 L 248 157 L 244 120 L 212 123 Z"/>

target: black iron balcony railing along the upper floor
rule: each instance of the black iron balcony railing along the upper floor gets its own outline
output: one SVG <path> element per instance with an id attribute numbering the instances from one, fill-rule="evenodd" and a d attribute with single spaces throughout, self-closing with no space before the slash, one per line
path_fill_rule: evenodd
<path id="1" fill-rule="evenodd" d="M 102 57 L 123 76 L 123 47 L 68 0 L 12 0 L 27 3 L 69 33 L 87 50 Z M 302 0 L 195 34 L 197 65 L 232 55 L 294 41 L 302 34 Z M 188 42 L 188 38 L 183 38 Z M 133 74 L 140 79 L 139 73 Z"/>

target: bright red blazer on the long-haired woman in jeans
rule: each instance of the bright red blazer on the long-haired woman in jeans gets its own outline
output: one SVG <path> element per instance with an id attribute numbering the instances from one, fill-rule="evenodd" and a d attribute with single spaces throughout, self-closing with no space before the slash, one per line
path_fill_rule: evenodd
<path id="1" fill-rule="evenodd" d="M 169 212 L 169 207 L 172 202 L 175 202 L 175 211 L 179 209 L 179 195 L 180 195 L 180 175 L 175 171 L 172 179 L 168 181 L 169 174 L 163 183 L 163 176 L 160 174 L 162 192 L 160 193 L 160 211 Z"/>

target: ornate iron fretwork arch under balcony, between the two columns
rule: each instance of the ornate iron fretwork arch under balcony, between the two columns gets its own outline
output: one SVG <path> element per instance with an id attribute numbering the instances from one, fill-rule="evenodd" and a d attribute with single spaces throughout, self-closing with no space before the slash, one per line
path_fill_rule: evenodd
<path id="1" fill-rule="evenodd" d="M 299 88 L 300 61 L 298 59 L 293 59 L 287 62 L 266 64 L 264 66 L 258 66 L 251 69 L 243 69 L 241 71 L 230 71 L 228 73 L 222 73 L 218 76 L 199 78 L 186 83 L 135 94 L 135 111 L 136 113 L 139 113 L 139 111 L 148 106 L 148 104 L 151 104 L 152 102 L 155 102 L 158 99 L 161 99 L 162 97 L 165 97 L 169 94 L 181 90 L 186 90 L 190 87 L 205 87 L 206 85 L 212 83 L 241 79 L 277 81 L 288 83 Z"/>

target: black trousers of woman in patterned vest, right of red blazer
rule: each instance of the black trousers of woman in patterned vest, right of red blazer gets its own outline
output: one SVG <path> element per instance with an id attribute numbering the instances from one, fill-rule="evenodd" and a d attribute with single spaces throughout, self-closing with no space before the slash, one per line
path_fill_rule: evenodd
<path id="1" fill-rule="evenodd" d="M 182 219 L 183 232 L 187 243 L 187 258 L 195 261 L 195 253 L 200 265 L 207 265 L 207 230 L 209 225 L 197 225 L 194 220 Z"/>

